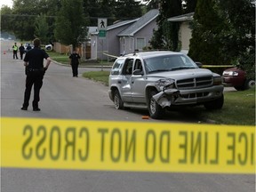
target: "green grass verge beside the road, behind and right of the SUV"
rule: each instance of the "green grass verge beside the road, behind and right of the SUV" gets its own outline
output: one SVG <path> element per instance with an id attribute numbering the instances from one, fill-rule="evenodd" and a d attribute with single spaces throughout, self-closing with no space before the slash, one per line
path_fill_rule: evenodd
<path id="1" fill-rule="evenodd" d="M 108 75 L 108 71 L 92 71 L 83 76 L 108 86 Z M 255 89 L 224 92 L 224 105 L 220 110 L 211 111 L 198 106 L 187 112 L 191 116 L 196 113 L 196 117 L 211 120 L 214 124 L 255 125 Z"/>

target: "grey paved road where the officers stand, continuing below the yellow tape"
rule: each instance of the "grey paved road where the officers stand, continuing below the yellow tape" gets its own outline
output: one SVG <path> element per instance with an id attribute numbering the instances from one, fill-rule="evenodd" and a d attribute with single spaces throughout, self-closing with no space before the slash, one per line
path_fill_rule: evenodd
<path id="1" fill-rule="evenodd" d="M 24 67 L 12 60 L 12 52 L 1 42 L 1 115 L 65 119 L 145 121 L 146 111 L 117 111 L 108 99 L 108 87 L 71 77 L 71 68 L 53 64 L 47 71 L 41 94 L 42 111 L 21 111 L 24 92 Z M 79 68 L 82 73 L 86 68 Z M 91 70 L 91 69 L 90 69 Z M 173 117 L 173 116 L 172 116 Z M 183 116 L 184 118 L 184 116 Z M 164 121 L 175 123 L 178 116 Z M 197 122 L 193 116 L 188 122 Z M 156 121 L 149 119 L 147 121 Z M 187 174 L 154 172 L 80 172 L 40 169 L 2 169 L 3 192 L 251 192 L 255 189 L 252 175 Z"/>

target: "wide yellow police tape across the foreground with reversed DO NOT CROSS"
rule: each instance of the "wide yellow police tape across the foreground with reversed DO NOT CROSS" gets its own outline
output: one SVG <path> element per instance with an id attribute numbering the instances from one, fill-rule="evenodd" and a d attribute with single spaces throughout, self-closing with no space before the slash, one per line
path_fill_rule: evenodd
<path id="1" fill-rule="evenodd" d="M 2 167 L 255 173 L 253 126 L 2 117 Z"/>

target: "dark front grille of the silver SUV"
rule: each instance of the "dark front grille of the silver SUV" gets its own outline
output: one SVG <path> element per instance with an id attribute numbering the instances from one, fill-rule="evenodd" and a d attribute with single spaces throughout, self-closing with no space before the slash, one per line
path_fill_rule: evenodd
<path id="1" fill-rule="evenodd" d="M 213 78 L 212 76 L 203 76 L 189 79 L 182 79 L 176 82 L 177 89 L 184 90 L 190 88 L 202 88 L 212 85 Z"/>

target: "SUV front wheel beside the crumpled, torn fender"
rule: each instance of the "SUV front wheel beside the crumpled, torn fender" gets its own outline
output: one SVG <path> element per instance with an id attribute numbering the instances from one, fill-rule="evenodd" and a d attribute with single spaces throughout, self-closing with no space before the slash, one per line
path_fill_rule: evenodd
<path id="1" fill-rule="evenodd" d="M 149 116 L 154 119 L 160 119 L 164 116 L 164 108 L 156 103 L 156 100 L 153 99 L 153 95 L 155 95 L 156 91 L 151 91 L 148 94 L 148 112 Z"/>

